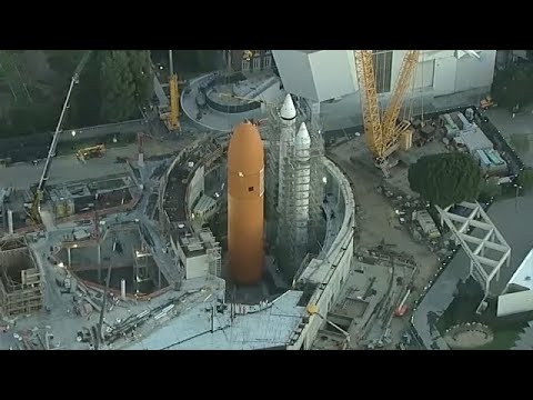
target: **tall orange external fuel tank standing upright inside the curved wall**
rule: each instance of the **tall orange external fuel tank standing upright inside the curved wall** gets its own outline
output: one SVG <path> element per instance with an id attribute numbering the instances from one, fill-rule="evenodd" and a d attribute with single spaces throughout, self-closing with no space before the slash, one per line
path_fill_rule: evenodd
<path id="1" fill-rule="evenodd" d="M 237 283 L 261 280 L 264 261 L 264 151 L 258 128 L 242 122 L 228 148 L 228 250 Z"/>

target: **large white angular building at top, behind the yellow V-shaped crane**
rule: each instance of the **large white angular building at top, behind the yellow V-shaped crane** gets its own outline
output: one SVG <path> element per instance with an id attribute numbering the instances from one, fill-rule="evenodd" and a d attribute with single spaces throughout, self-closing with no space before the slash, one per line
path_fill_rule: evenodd
<path id="1" fill-rule="evenodd" d="M 386 100 L 394 88 L 405 52 L 375 50 L 374 68 L 382 100 Z M 494 76 L 496 50 L 475 50 L 475 53 L 479 58 L 473 57 L 471 50 L 421 50 L 413 87 L 414 98 L 429 99 L 429 110 L 431 100 L 438 97 L 486 93 Z M 350 98 L 346 112 L 352 117 L 354 113 L 361 114 L 353 50 L 273 50 L 272 54 L 285 91 L 314 104 Z M 445 107 L 464 102 L 467 101 L 451 100 L 445 102 Z M 441 107 L 434 104 L 433 108 Z M 338 113 L 342 112 L 340 109 L 341 104 L 336 107 Z"/>

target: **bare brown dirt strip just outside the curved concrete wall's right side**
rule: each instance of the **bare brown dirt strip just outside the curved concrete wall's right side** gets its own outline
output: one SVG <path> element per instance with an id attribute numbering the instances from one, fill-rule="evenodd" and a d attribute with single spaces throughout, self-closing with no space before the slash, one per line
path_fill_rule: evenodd
<path id="1" fill-rule="evenodd" d="M 363 144 L 363 143 L 361 143 Z M 365 159 L 364 148 L 344 143 L 331 150 L 329 157 L 344 171 L 352 183 L 356 204 L 361 207 L 360 240 L 355 244 L 361 248 L 375 247 L 384 239 L 398 251 L 412 254 L 419 267 L 414 280 L 414 292 L 408 299 L 408 307 L 412 306 L 423 288 L 435 276 L 439 267 L 438 258 L 424 246 L 414 242 L 410 233 L 401 228 L 394 217 L 394 210 L 389 201 L 381 196 L 375 187 L 382 181 L 381 172 L 373 167 L 361 162 L 350 161 L 350 157 Z M 411 307 L 410 307 L 411 308 Z M 393 344 L 398 343 L 402 331 L 408 328 L 411 314 L 393 319 L 391 324 Z"/>

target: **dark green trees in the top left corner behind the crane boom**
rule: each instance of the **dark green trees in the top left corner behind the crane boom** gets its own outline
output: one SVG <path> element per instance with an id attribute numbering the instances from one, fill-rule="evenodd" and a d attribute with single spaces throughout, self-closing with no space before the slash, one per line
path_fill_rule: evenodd
<path id="1" fill-rule="evenodd" d="M 8 56 L 13 51 L 0 51 L 0 82 L 2 78 L 12 78 L 9 86 L 3 82 L 3 91 L 9 96 L 17 92 L 19 100 L 24 100 L 29 92 L 32 99 L 31 103 L 13 101 L 10 104 L 8 112 L 0 118 L 0 136 L 53 130 L 70 79 L 86 51 L 43 50 L 48 67 L 53 73 L 39 79 L 26 73 L 23 83 L 27 90 L 22 90 L 22 80 L 14 68 L 11 68 L 11 71 L 7 67 L 11 66 L 8 61 L 16 60 L 19 63 L 18 69 L 26 71 L 24 66 L 32 58 L 10 58 Z M 147 104 L 152 96 L 152 73 L 149 50 L 93 51 L 81 72 L 80 83 L 72 92 L 64 128 L 140 118 L 139 107 Z"/>

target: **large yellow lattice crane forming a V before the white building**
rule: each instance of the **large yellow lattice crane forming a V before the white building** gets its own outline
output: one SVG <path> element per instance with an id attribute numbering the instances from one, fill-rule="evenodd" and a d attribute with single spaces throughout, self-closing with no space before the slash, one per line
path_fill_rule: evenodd
<path id="1" fill-rule="evenodd" d="M 386 160 L 399 147 L 400 137 L 405 133 L 411 123 L 398 118 L 403 106 L 403 100 L 409 84 L 414 78 L 419 62 L 420 50 L 408 50 L 400 69 L 396 84 L 386 110 L 381 113 L 378 99 L 376 77 L 374 72 L 372 50 L 355 50 L 355 68 L 361 93 L 363 111 L 364 137 L 372 152 L 375 163 L 388 174 Z"/>

